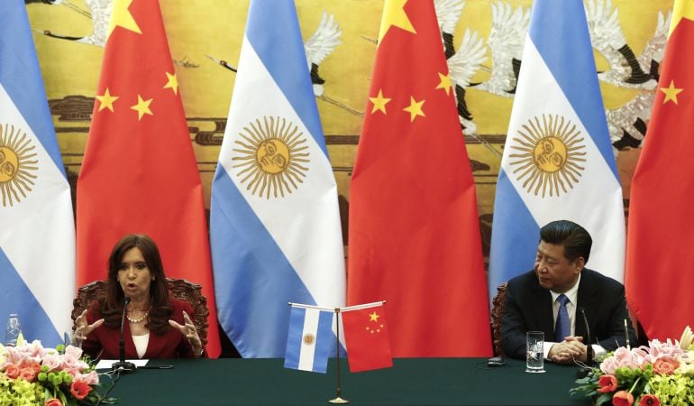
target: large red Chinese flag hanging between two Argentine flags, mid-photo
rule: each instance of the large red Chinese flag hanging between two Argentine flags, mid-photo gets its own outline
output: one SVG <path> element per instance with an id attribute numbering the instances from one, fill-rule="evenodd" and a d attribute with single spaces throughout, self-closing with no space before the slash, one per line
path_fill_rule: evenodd
<path id="1" fill-rule="evenodd" d="M 393 356 L 491 354 L 475 186 L 432 1 L 387 0 L 350 190 L 348 305 Z"/>

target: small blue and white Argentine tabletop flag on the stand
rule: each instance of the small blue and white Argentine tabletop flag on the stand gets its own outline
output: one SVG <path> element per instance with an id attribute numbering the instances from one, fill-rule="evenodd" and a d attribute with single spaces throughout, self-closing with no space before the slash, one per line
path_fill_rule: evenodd
<path id="1" fill-rule="evenodd" d="M 285 368 L 325 374 L 334 354 L 334 311 L 292 303 Z"/>

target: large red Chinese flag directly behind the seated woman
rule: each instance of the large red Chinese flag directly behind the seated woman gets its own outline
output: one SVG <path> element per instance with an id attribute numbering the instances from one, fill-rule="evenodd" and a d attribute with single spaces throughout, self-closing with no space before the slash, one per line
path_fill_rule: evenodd
<path id="1" fill-rule="evenodd" d="M 205 203 L 159 2 L 113 6 L 78 179 L 78 285 L 105 279 L 121 236 L 151 235 L 167 276 L 202 285 L 217 356 Z"/>

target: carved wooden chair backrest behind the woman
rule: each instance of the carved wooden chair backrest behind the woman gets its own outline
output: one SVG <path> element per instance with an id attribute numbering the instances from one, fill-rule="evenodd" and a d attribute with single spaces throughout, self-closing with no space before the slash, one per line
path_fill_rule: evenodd
<path id="1" fill-rule="evenodd" d="M 210 310 L 207 309 L 207 298 L 203 295 L 202 287 L 185 279 L 167 278 L 169 294 L 172 298 L 186 300 L 193 308 L 193 318 L 203 346 L 207 345 L 207 317 Z M 72 330 L 75 331 L 75 319 L 87 309 L 92 301 L 105 294 L 106 282 L 93 281 L 78 289 L 78 295 L 72 300 Z"/>

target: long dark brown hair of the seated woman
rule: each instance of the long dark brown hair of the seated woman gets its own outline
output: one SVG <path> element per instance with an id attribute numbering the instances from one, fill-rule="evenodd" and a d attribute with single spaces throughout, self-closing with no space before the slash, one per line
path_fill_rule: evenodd
<path id="1" fill-rule="evenodd" d="M 150 284 L 151 308 L 147 316 L 146 328 L 155 334 L 164 334 L 169 330 L 169 316 L 173 312 L 169 306 L 169 289 L 167 287 L 164 267 L 161 263 L 159 248 L 149 235 L 124 235 L 108 258 L 108 278 L 106 279 L 105 296 L 98 299 L 99 312 L 105 318 L 105 324 L 111 328 L 121 325 L 123 300 L 125 295 L 118 282 L 118 270 L 123 263 L 125 253 L 132 248 L 140 249 L 144 262 L 150 270 L 153 281 Z"/>

